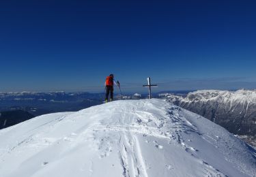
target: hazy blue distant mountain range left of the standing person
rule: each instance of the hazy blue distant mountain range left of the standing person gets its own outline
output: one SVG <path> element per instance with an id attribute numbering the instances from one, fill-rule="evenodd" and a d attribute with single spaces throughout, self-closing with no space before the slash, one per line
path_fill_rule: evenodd
<path id="1" fill-rule="evenodd" d="M 104 93 L 0 93 L 0 111 L 25 110 L 35 116 L 77 111 L 102 103 Z"/>

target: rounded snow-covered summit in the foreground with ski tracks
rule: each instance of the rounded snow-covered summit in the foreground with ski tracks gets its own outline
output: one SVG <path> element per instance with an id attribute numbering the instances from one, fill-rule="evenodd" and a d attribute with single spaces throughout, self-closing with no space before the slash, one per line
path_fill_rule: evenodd
<path id="1" fill-rule="evenodd" d="M 255 176 L 255 150 L 160 99 L 46 114 L 0 131 L 0 174 Z"/>

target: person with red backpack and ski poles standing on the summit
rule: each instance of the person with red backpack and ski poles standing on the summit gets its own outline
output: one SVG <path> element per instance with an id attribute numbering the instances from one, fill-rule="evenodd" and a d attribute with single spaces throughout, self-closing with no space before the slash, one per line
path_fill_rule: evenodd
<path id="1" fill-rule="evenodd" d="M 117 82 L 115 82 L 114 75 L 110 74 L 109 76 L 106 77 L 106 82 L 105 82 L 105 89 L 106 89 L 105 103 L 109 101 L 109 93 L 110 93 L 110 101 L 113 101 L 114 84 L 116 86 L 120 86 L 119 81 L 117 80 Z"/>

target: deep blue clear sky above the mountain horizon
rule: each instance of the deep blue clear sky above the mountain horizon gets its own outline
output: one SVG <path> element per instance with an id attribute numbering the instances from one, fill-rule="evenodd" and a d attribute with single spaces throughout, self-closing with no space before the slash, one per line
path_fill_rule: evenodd
<path id="1" fill-rule="evenodd" d="M 0 1 L 0 91 L 256 88 L 256 1 Z"/>

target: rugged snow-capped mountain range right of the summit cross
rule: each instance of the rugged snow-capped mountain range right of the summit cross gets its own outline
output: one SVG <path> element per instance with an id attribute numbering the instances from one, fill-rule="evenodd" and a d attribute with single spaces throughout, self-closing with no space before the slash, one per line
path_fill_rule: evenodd
<path id="1" fill-rule="evenodd" d="M 239 135 L 256 135 L 256 91 L 195 91 L 167 100 Z"/>

